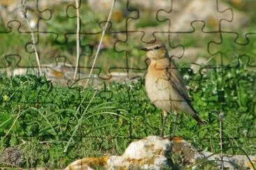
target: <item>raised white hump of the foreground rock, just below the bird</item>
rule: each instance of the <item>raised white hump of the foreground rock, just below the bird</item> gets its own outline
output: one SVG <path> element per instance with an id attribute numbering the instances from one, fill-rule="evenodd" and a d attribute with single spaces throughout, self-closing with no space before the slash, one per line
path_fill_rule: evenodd
<path id="1" fill-rule="evenodd" d="M 165 155 L 170 151 L 169 139 L 150 136 L 139 141 L 134 141 L 120 157 L 122 161 L 108 160 L 108 169 L 124 167 L 126 169 L 162 169 L 169 167 L 168 158 Z"/>

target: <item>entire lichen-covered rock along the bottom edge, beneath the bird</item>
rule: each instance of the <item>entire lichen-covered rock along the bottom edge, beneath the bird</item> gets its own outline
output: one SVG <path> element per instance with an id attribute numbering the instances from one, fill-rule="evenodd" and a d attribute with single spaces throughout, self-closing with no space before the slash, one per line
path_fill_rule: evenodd
<path id="1" fill-rule="evenodd" d="M 176 157 L 176 158 L 173 158 Z M 178 158 L 177 158 L 178 157 Z M 221 159 L 222 157 L 222 159 Z M 255 161 L 256 156 L 248 156 Z M 200 166 L 198 162 L 214 162 L 219 168 L 221 160 L 225 160 L 224 168 L 237 169 L 239 167 L 253 169 L 246 155 L 220 155 L 200 151 L 192 144 L 175 137 L 172 140 L 162 137 L 149 136 L 134 141 L 125 150 L 122 156 L 87 157 L 77 160 L 68 169 L 186 169 Z M 178 159 L 176 161 L 175 159 Z"/>

